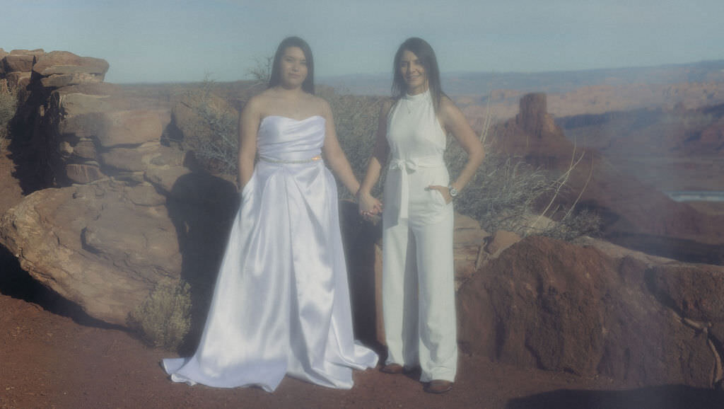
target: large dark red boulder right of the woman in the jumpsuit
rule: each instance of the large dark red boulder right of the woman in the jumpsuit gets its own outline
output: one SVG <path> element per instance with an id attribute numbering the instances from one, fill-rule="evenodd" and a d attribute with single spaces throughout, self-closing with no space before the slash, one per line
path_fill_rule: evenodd
<path id="1" fill-rule="evenodd" d="M 724 268 L 619 254 L 536 236 L 513 244 L 460 288 L 460 347 L 632 386 L 712 387 Z"/>

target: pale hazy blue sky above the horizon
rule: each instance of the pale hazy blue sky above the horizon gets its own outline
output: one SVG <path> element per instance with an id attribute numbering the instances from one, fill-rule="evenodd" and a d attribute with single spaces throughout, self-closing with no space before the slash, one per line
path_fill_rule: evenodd
<path id="1" fill-rule="evenodd" d="M 424 38 L 444 73 L 724 59 L 723 0 L 0 0 L 0 48 L 106 59 L 106 82 L 248 79 L 286 36 L 318 76 L 391 73 Z"/>

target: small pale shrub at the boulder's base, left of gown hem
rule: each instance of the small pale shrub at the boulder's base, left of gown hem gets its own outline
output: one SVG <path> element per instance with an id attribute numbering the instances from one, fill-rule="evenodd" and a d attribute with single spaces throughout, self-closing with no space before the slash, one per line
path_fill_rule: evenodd
<path id="1" fill-rule="evenodd" d="M 157 285 L 130 313 L 128 324 L 148 344 L 177 350 L 191 327 L 190 286 L 184 281 Z"/>

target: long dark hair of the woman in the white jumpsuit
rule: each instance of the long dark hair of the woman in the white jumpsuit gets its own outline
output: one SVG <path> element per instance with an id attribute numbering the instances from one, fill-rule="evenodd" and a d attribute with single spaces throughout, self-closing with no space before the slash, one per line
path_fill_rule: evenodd
<path id="1" fill-rule="evenodd" d="M 437 67 L 437 57 L 435 57 L 435 51 L 432 46 L 427 44 L 422 38 L 411 37 L 405 40 L 400 48 L 397 49 L 395 54 L 395 76 L 392 78 L 392 98 L 400 99 L 405 96 L 407 92 L 407 84 L 405 78 L 403 78 L 402 70 L 400 69 L 400 60 L 403 58 L 403 52 L 411 51 L 420 60 L 421 65 L 425 68 L 425 75 L 427 75 L 427 86 L 432 95 L 432 104 L 437 112 L 440 106 L 440 99 L 442 95 L 442 87 L 440 86 L 440 70 Z"/>

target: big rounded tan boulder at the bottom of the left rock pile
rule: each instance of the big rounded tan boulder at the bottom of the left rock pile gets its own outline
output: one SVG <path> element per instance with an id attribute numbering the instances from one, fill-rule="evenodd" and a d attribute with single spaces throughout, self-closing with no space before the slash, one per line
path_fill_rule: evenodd
<path id="1" fill-rule="evenodd" d="M 174 223 L 155 197 L 148 186 L 111 182 L 36 191 L 4 214 L 0 241 L 88 315 L 125 325 L 156 284 L 181 271 Z"/>

